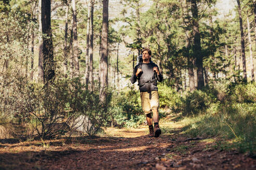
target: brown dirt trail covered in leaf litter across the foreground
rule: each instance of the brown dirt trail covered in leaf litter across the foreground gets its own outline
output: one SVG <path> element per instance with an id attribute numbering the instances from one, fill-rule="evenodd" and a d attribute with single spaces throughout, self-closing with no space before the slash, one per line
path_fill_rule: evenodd
<path id="1" fill-rule="evenodd" d="M 165 130 L 163 129 L 163 132 Z M 255 169 L 256 160 L 186 140 L 178 129 L 158 138 L 148 127 L 106 129 L 107 137 L 75 137 L 0 145 L 0 169 Z M 43 147 L 43 146 L 44 147 Z"/>

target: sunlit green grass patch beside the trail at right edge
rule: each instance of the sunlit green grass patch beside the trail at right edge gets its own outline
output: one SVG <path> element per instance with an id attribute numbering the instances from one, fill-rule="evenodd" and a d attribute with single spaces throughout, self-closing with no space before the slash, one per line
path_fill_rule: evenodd
<path id="1" fill-rule="evenodd" d="M 183 133 L 189 137 L 217 136 L 222 141 L 222 143 L 217 142 L 218 148 L 237 148 L 239 152 L 255 152 L 256 105 L 254 103 L 236 103 L 217 107 L 219 107 L 219 114 L 208 113 L 184 118 L 181 121 Z M 224 140 L 230 140 L 232 143 L 224 143 Z"/>

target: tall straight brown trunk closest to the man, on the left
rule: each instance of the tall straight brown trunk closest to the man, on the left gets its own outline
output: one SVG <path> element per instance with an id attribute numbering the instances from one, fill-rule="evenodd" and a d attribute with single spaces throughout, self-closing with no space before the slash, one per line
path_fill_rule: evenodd
<path id="1" fill-rule="evenodd" d="M 108 86 L 108 0 L 103 0 L 103 27 L 100 58 L 100 94 L 106 99 L 104 89 Z"/>

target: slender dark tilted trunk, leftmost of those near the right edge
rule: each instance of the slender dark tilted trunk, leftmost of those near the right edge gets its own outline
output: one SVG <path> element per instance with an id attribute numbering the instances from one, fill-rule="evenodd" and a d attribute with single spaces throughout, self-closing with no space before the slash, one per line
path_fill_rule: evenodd
<path id="1" fill-rule="evenodd" d="M 239 22 L 240 22 L 240 31 L 241 31 L 241 51 L 242 51 L 242 72 L 244 81 L 247 82 L 247 74 L 246 74 L 246 56 L 245 56 L 245 36 L 244 29 L 242 27 L 242 14 L 241 14 L 241 6 L 240 0 L 237 0 L 238 5 L 238 13 L 239 13 Z"/>

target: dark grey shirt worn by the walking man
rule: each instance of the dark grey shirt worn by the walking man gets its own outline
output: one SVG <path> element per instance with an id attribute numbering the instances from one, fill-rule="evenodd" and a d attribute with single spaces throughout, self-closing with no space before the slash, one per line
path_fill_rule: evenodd
<path id="1" fill-rule="evenodd" d="M 143 80 L 143 81 L 149 81 L 149 80 L 152 80 L 154 78 L 154 71 L 153 71 L 153 67 L 158 67 L 155 63 L 153 62 L 150 62 L 150 63 L 142 63 L 142 73 L 140 73 L 138 75 L 138 77 L 136 76 L 136 72 L 137 72 L 137 69 L 138 69 L 138 65 L 136 65 L 133 69 L 133 75 L 131 77 L 131 82 L 132 83 L 135 83 L 136 80 L 139 78 L 140 80 Z M 159 68 L 158 68 L 159 70 Z M 155 77 L 159 82 L 161 82 L 163 80 L 163 76 L 162 74 L 160 73 L 159 75 L 156 74 L 156 77 Z M 146 86 L 147 84 L 144 84 L 143 86 L 139 86 L 139 91 L 140 92 L 146 92 L 148 91 L 148 87 Z M 157 86 L 153 83 L 151 83 L 151 91 L 157 91 Z"/>

